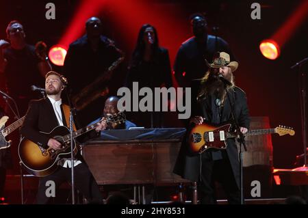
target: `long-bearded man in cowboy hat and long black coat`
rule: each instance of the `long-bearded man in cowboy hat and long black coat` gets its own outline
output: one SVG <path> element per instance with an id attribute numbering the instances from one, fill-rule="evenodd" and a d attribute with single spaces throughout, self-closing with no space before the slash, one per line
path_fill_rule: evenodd
<path id="1" fill-rule="evenodd" d="M 209 70 L 201 79 L 201 90 L 194 98 L 195 103 L 192 104 L 190 124 L 192 126 L 204 122 L 218 126 L 226 122 L 233 124 L 231 115 L 233 107 L 240 131 L 246 133 L 250 123 L 246 94 L 235 86 L 233 77 L 238 62 L 230 62 L 228 53 L 218 52 L 208 66 Z M 226 142 L 227 149 L 209 149 L 201 155 L 192 154 L 188 150 L 189 146 L 183 142 L 175 165 L 175 173 L 198 182 L 201 204 L 216 204 L 215 181 L 222 184 L 229 204 L 240 204 L 238 148 L 234 138 L 227 139 Z"/>

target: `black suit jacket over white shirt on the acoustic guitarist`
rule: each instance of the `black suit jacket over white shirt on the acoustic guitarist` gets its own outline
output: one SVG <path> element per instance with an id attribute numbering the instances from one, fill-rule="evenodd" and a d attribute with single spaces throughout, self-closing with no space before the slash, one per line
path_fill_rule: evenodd
<path id="1" fill-rule="evenodd" d="M 61 112 L 63 124 L 67 126 L 62 107 Z M 25 121 L 21 127 L 21 134 L 39 146 L 47 148 L 49 137 L 40 132 L 49 133 L 59 125 L 49 98 L 32 100 L 29 103 Z"/>

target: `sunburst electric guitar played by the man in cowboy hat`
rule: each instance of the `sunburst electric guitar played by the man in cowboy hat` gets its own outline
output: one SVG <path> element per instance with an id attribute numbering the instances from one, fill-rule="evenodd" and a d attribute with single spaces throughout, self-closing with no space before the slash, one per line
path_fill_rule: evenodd
<path id="1" fill-rule="evenodd" d="M 237 137 L 237 134 L 230 132 L 231 124 L 223 126 L 210 126 L 209 124 L 201 124 L 194 126 L 187 138 L 187 142 L 192 152 L 199 154 L 209 148 L 225 149 L 227 148 L 226 140 Z M 278 133 L 281 135 L 294 135 L 292 128 L 279 126 L 276 128 L 256 129 L 245 133 L 245 135 L 265 135 Z"/>

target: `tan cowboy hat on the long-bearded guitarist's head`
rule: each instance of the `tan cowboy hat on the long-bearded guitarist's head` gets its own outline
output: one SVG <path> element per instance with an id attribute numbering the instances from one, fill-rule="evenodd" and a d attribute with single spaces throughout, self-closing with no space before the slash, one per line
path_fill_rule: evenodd
<path id="1" fill-rule="evenodd" d="M 207 60 L 205 59 L 205 62 Z M 221 68 L 222 66 L 229 66 L 231 68 L 231 72 L 234 72 L 238 69 L 238 62 L 230 62 L 230 55 L 225 52 L 216 52 L 214 54 L 213 63 L 209 64 L 207 62 L 207 66 L 210 68 Z"/>

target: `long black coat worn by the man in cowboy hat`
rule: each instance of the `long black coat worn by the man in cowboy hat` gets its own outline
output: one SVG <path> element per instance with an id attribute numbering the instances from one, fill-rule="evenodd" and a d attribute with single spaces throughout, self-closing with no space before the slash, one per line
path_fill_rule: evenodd
<path id="1" fill-rule="evenodd" d="M 233 108 L 235 110 L 235 118 L 236 120 L 238 120 L 239 125 L 242 127 L 249 128 L 250 117 L 246 94 L 239 87 L 235 87 L 229 92 L 229 96 L 231 97 L 231 101 L 234 105 Z M 213 114 L 211 100 L 205 99 L 200 103 L 197 103 L 197 105 L 192 105 L 192 107 L 196 108 L 195 111 L 192 113 L 192 116 L 202 115 L 203 117 L 207 118 L 205 122 L 210 122 L 211 115 Z M 231 108 L 229 100 L 226 98 L 224 102 L 224 109 L 222 111 L 221 123 L 226 123 L 229 121 L 231 121 Z M 235 144 L 235 139 L 227 139 L 227 154 L 231 163 L 231 167 L 233 169 L 235 180 L 237 181 L 238 185 L 240 185 L 238 148 Z M 203 152 L 202 155 L 207 155 L 207 152 Z M 177 158 L 177 163 L 175 164 L 175 174 L 179 174 L 180 176 L 188 180 L 198 181 L 201 167 L 200 158 L 200 155 L 190 153 L 188 145 L 185 143 L 184 137 L 181 150 Z"/>

